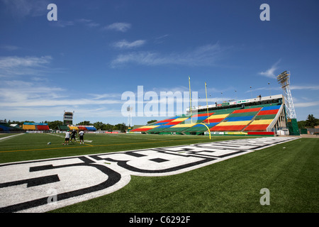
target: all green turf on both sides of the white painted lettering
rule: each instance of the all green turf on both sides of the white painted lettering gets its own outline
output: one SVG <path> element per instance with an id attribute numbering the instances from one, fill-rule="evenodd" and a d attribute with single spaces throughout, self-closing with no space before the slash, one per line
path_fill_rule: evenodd
<path id="1" fill-rule="evenodd" d="M 60 136 L 0 140 L 0 162 L 209 142 L 204 136 L 87 134 L 91 143 L 62 145 Z M 116 192 L 52 212 L 318 212 L 318 187 L 319 140 L 300 138 L 179 175 L 132 176 Z M 259 203 L 262 188 L 270 191 L 269 206 Z"/>

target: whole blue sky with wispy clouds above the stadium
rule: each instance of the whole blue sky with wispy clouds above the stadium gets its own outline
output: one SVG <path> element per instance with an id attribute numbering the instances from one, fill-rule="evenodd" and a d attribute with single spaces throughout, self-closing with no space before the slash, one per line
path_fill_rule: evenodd
<path id="1" fill-rule="evenodd" d="M 47 20 L 50 3 L 57 21 Z M 270 21 L 259 19 L 264 3 Z M 285 70 L 298 121 L 319 118 L 318 9 L 316 0 L 0 0 L 0 119 L 62 121 L 66 110 L 76 123 L 126 123 L 121 96 L 138 86 L 187 92 L 190 76 L 204 105 L 205 82 L 209 103 L 249 99 L 281 94 Z M 154 118 L 165 117 L 133 124 Z"/>

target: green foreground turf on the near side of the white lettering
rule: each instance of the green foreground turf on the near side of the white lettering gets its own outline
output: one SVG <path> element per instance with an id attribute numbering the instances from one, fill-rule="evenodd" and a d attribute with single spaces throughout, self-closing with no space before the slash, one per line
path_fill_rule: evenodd
<path id="1" fill-rule="evenodd" d="M 132 176 L 116 192 L 51 212 L 318 212 L 318 147 L 300 138 L 179 175 Z M 259 202 L 262 188 L 270 205 Z"/>

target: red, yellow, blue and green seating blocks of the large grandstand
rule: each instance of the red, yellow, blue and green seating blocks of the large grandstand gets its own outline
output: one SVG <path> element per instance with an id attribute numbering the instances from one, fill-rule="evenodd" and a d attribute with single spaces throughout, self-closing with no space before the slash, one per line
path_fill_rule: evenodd
<path id="1" fill-rule="evenodd" d="M 157 121 L 147 126 L 136 128 L 130 132 L 140 133 L 181 133 L 202 134 L 210 128 L 213 132 L 247 132 L 245 135 L 256 135 L 267 132 L 269 124 L 274 121 L 281 104 L 264 104 L 242 108 L 219 109 L 199 112 L 193 116 L 175 116 Z M 203 124 L 206 126 L 203 126 Z"/>

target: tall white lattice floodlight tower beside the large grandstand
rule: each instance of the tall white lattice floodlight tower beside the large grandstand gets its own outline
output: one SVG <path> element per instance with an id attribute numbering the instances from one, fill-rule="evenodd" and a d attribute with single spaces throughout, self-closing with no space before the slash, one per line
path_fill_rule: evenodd
<path id="1" fill-rule="evenodd" d="M 279 84 L 281 84 L 281 88 L 284 90 L 287 117 L 290 119 L 296 119 L 297 118 L 296 111 L 295 111 L 295 107 L 293 106 L 293 99 L 292 99 L 292 95 L 291 95 L 291 91 L 289 87 L 290 72 L 289 71 L 281 72 L 281 74 L 277 76 L 277 81 L 279 82 Z"/>

